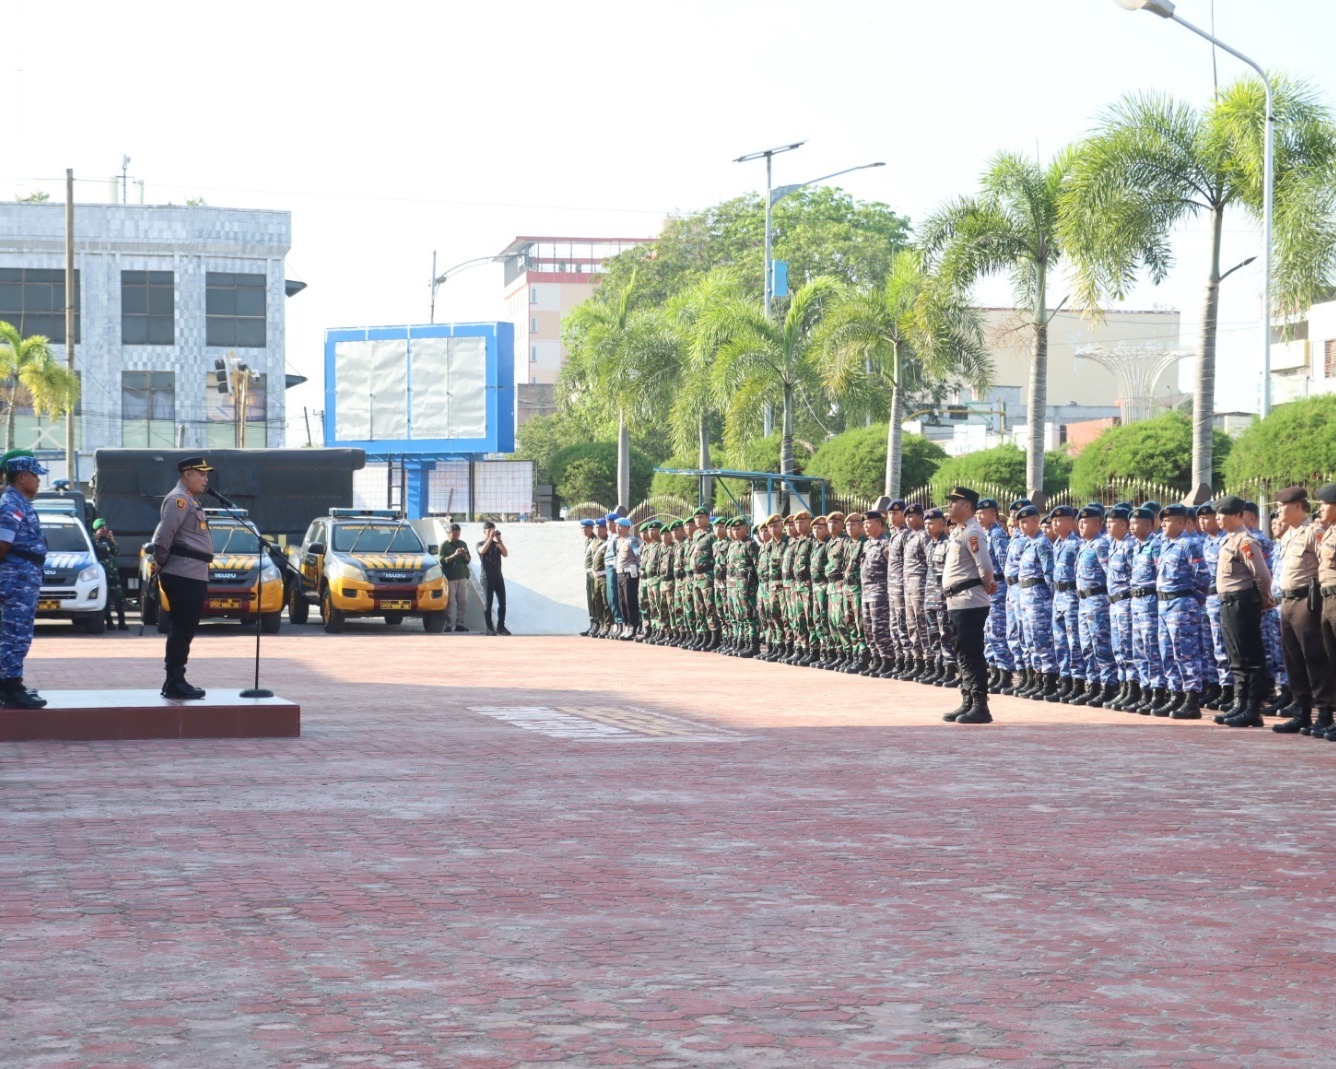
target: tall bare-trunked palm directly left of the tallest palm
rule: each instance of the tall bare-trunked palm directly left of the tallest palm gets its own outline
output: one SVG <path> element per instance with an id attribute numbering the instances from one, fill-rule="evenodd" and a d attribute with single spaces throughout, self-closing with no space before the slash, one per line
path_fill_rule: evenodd
<path id="1" fill-rule="evenodd" d="M 1062 257 L 1058 202 L 1070 170 L 1070 150 L 1045 167 L 1014 152 L 994 156 L 977 196 L 965 196 L 934 212 L 921 243 L 927 265 L 951 290 L 967 291 L 977 279 L 1007 274 L 1017 310 L 1034 337 L 1026 398 L 1025 478 L 1031 497 L 1043 496 L 1043 428 L 1049 408 L 1049 323 L 1061 310 L 1049 307 L 1049 274 Z"/>

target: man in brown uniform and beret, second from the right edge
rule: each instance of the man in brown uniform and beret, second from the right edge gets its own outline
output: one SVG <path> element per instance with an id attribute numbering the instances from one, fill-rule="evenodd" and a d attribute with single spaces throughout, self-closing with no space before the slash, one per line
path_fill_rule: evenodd
<path id="1" fill-rule="evenodd" d="M 1315 731 L 1332 723 L 1336 685 L 1323 649 L 1321 588 L 1317 583 L 1317 547 L 1321 532 L 1308 517 L 1308 490 L 1287 486 L 1276 494 L 1285 533 L 1280 540 L 1280 637 L 1285 672 L 1299 715 L 1319 711 Z"/>

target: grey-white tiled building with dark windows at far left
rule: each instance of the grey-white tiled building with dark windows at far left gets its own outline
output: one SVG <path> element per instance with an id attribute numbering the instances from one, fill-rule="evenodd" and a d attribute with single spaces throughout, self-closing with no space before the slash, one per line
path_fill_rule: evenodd
<path id="1" fill-rule="evenodd" d="M 65 361 L 64 204 L 0 204 L 0 319 Z M 283 444 L 286 211 L 75 206 L 77 474 L 103 446 L 238 445 L 215 361 L 244 363 L 246 446 Z M 64 449 L 64 421 L 20 406 L 17 445 Z M 63 470 L 63 457 L 60 474 Z M 55 477 L 55 472 L 53 472 Z"/>

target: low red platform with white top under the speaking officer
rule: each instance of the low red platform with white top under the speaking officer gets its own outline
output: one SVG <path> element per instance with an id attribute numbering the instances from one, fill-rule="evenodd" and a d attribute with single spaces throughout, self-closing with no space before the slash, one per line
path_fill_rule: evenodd
<path id="1" fill-rule="evenodd" d="M 43 691 L 44 710 L 0 710 L 0 742 L 37 739 L 295 739 L 302 707 L 211 690 L 199 702 L 158 691 Z"/>

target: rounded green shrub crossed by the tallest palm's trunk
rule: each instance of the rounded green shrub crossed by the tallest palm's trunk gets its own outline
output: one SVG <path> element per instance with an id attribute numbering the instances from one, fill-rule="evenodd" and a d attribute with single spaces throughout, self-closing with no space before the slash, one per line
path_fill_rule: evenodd
<path id="1" fill-rule="evenodd" d="M 1214 432 L 1213 441 L 1214 482 L 1220 485 L 1233 441 L 1220 430 Z M 1192 420 L 1181 412 L 1168 412 L 1153 420 L 1109 428 L 1073 462 L 1071 493 L 1097 498 L 1113 480 L 1125 478 L 1190 493 Z"/>

